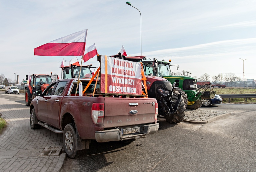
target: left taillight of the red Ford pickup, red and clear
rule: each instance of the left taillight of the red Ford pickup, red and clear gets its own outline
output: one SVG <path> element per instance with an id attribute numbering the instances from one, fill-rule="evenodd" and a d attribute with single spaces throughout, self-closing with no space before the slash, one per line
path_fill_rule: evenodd
<path id="1" fill-rule="evenodd" d="M 93 103 L 91 116 L 93 123 L 96 126 L 103 126 L 104 124 L 104 103 Z"/>

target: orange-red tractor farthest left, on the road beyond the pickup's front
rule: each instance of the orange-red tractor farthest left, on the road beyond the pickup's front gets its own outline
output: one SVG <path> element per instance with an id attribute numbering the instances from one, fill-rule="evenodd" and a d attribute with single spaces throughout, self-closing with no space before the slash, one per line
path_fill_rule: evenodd
<path id="1" fill-rule="evenodd" d="M 51 73 L 52 74 L 52 73 Z M 34 92 L 36 90 L 42 90 L 42 92 L 48 87 L 53 81 L 51 77 L 58 75 L 44 75 L 44 74 L 33 74 L 26 75 L 26 80 L 28 80 L 28 85 L 25 86 L 25 104 L 30 105 L 31 100 L 35 98 Z"/>

